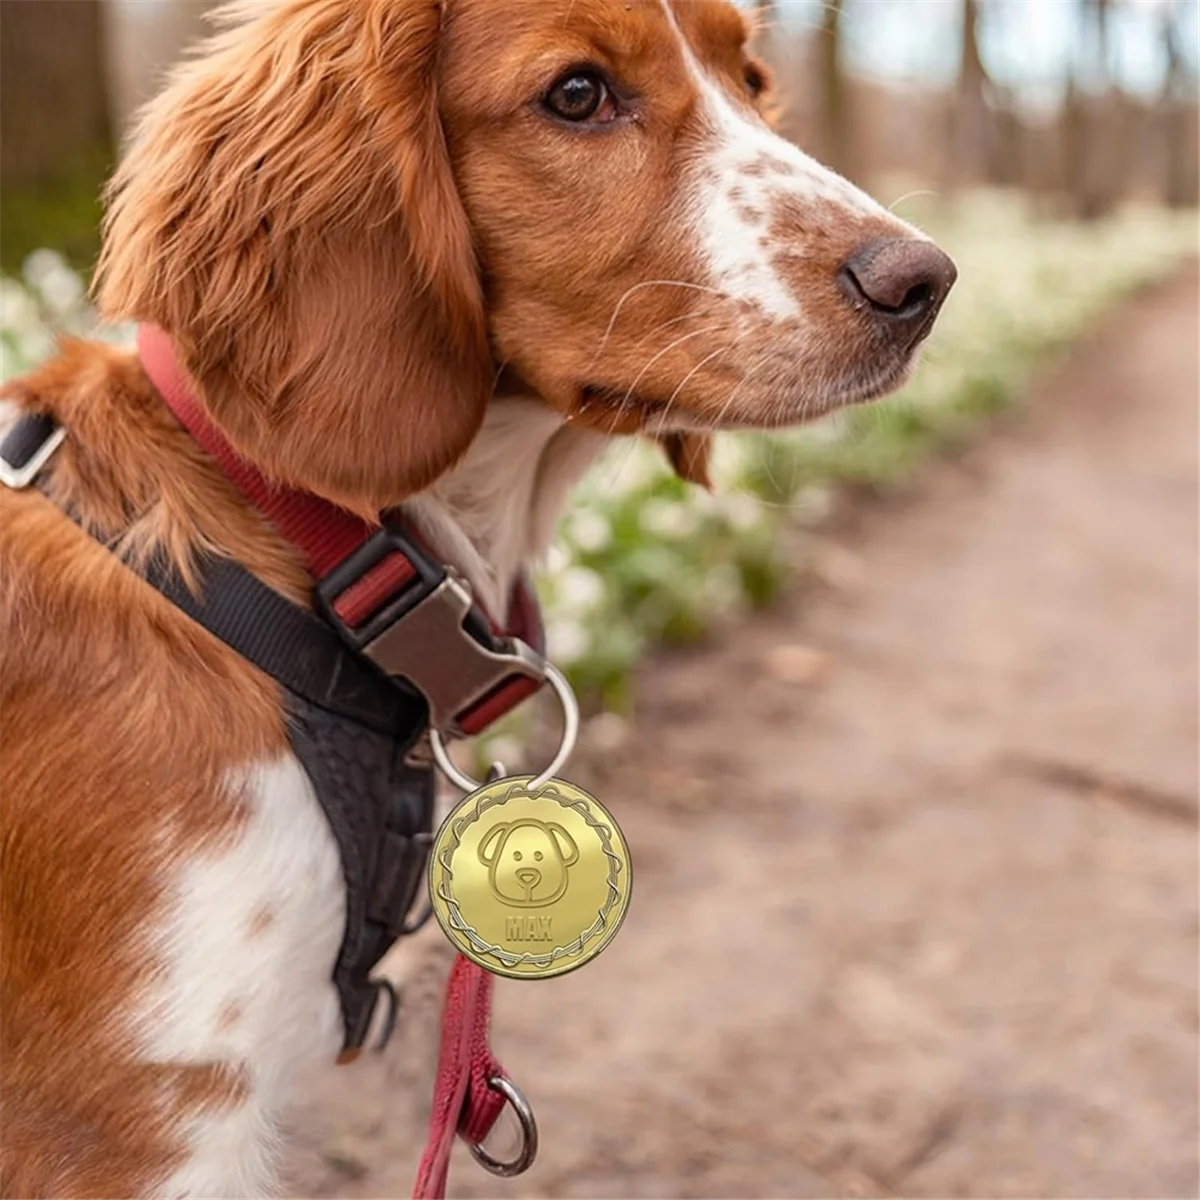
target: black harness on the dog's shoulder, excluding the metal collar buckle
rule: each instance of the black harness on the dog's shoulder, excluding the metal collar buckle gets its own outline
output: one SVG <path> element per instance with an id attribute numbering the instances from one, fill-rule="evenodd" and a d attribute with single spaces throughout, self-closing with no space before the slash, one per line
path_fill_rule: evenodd
<path id="1" fill-rule="evenodd" d="M 61 433 L 48 418 L 19 416 L 0 440 L 0 469 L 28 473 L 38 458 L 44 466 L 49 456 L 42 448 L 58 445 Z M 40 482 L 35 474 L 19 486 Z M 292 749 L 313 782 L 346 878 L 347 919 L 332 979 L 344 1030 L 340 1061 L 349 1061 L 361 1050 L 380 998 L 388 1003 L 386 1040 L 398 1001 L 371 972 L 427 914 L 410 917 L 432 841 L 433 775 L 404 761 L 427 726 L 426 701 L 232 559 L 198 557 L 194 587 L 161 557 L 126 565 L 281 686 Z"/>

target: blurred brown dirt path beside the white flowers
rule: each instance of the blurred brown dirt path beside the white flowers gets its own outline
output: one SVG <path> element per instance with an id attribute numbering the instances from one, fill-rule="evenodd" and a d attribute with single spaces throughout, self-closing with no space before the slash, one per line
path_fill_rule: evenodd
<path id="1" fill-rule="evenodd" d="M 575 773 L 625 928 L 498 988 L 542 1158 L 452 1195 L 1200 1195 L 1198 300 L 1110 320 L 827 545 L 836 586 L 647 670 Z M 408 1195 L 428 1039 L 306 1117 L 306 1194 Z"/>

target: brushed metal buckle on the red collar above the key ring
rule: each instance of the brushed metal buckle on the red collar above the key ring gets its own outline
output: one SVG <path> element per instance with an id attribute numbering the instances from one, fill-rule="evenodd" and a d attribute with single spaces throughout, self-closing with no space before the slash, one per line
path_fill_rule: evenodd
<path id="1" fill-rule="evenodd" d="M 517 638 L 497 638 L 492 650 L 464 628 L 470 592 L 448 575 L 424 600 L 385 629 L 362 653 L 391 676 L 403 676 L 430 704 L 430 725 L 461 737 L 458 719 L 506 679 L 546 678 L 542 658 Z"/>

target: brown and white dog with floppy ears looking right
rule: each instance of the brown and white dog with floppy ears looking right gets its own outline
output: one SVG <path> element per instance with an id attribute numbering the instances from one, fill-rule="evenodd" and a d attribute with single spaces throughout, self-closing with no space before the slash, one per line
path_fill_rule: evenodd
<path id="1" fill-rule="evenodd" d="M 746 35 L 725 0 L 241 0 L 136 131 L 101 308 L 499 612 L 611 438 L 702 481 L 718 430 L 900 383 L 953 283 L 770 132 Z M 49 498 L 0 488 L 0 1193 L 268 1194 L 338 1048 L 337 848 L 272 682 L 121 556 L 311 580 L 132 353 L 4 395 L 70 437 Z"/>

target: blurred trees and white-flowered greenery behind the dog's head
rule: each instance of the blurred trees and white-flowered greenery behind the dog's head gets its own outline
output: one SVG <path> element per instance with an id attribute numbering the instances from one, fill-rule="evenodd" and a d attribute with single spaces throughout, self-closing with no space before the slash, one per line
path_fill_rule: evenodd
<path id="1" fill-rule="evenodd" d="M 204 0 L 4 0 L 0 377 L 92 325 L 98 193 L 137 103 Z M 546 564 L 551 650 L 622 709 L 648 647 L 768 604 L 847 490 L 902 484 L 1012 404 L 1028 373 L 1200 248 L 1200 0 L 745 0 L 784 131 L 959 262 L 895 400 L 725 437 L 712 494 L 619 444 Z M 127 330 L 104 336 L 127 337 Z M 502 737 L 504 734 L 502 733 Z"/>

